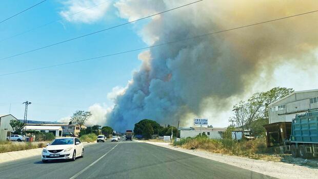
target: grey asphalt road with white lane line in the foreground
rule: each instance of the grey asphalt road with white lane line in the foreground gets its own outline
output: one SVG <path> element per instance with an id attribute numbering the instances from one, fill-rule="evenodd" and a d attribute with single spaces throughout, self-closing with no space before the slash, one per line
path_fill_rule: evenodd
<path id="1" fill-rule="evenodd" d="M 97 143 L 84 158 L 43 164 L 41 155 L 0 164 L 0 178 L 272 178 L 142 142 Z"/>

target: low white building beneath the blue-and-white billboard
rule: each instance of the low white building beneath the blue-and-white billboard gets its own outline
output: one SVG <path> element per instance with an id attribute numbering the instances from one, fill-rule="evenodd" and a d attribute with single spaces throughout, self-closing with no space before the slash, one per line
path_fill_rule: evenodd
<path id="1" fill-rule="evenodd" d="M 180 138 L 194 138 L 201 133 L 201 127 L 179 127 Z M 202 133 L 207 135 L 209 139 L 222 139 L 222 133 L 226 128 L 202 127 Z"/>

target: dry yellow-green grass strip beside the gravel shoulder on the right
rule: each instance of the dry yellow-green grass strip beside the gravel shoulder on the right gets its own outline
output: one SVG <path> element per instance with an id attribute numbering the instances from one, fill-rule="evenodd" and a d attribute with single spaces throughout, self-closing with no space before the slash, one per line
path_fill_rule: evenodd
<path id="1" fill-rule="evenodd" d="M 213 140 L 204 137 L 182 139 L 174 143 L 186 149 L 199 149 L 215 153 L 245 156 L 251 159 L 268 161 L 280 161 L 281 151 L 279 147 L 267 148 L 264 138 L 250 141 L 233 141 L 231 139 Z"/>

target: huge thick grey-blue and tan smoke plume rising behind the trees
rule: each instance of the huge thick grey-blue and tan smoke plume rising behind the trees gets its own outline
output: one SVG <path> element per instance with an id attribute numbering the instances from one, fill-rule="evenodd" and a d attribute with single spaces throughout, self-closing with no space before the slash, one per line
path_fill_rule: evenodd
<path id="1" fill-rule="evenodd" d="M 121 17 L 133 20 L 188 2 L 122 0 L 115 7 Z M 308 12 L 316 5 L 206 0 L 157 16 L 138 33 L 148 44 L 158 44 Z M 147 118 L 174 125 L 180 120 L 184 125 L 189 117 L 204 117 L 207 108 L 211 113 L 222 110 L 229 98 L 248 91 L 262 72 L 270 80 L 271 72 L 287 61 L 316 63 L 317 21 L 318 14 L 312 13 L 142 52 L 143 64 L 125 93 L 116 97 L 107 124 L 126 130 Z"/>

